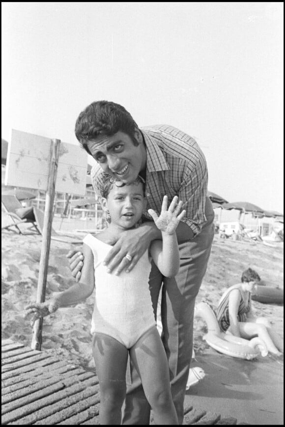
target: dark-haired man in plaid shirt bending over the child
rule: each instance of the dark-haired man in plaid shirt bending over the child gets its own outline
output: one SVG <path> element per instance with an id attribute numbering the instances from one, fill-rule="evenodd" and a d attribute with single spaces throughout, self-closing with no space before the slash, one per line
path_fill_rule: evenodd
<path id="1" fill-rule="evenodd" d="M 147 209 L 159 213 L 164 195 L 183 201 L 186 216 L 176 234 L 180 268 L 175 278 L 166 278 L 152 265 L 149 288 L 154 313 L 162 287 L 162 341 L 169 361 L 171 393 L 179 424 L 183 422 L 183 402 L 193 348 L 195 298 L 205 274 L 214 237 L 214 213 L 207 197 L 206 161 L 197 142 L 168 125 L 139 129 L 124 107 L 114 102 L 96 101 L 82 111 L 75 134 L 80 144 L 97 162 L 91 181 L 102 196 L 104 180 L 114 176 L 123 183 L 140 175 L 146 184 Z M 147 217 L 147 214 L 146 214 Z M 110 273 L 130 271 L 154 239 L 161 233 L 154 222 L 144 221 L 109 242 L 113 249 L 105 259 Z M 83 256 L 69 252 L 72 274 L 79 280 Z M 130 366 L 122 424 L 148 425 L 150 407 L 142 385 Z"/>

